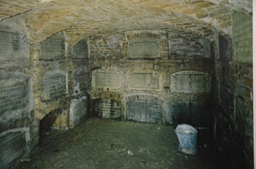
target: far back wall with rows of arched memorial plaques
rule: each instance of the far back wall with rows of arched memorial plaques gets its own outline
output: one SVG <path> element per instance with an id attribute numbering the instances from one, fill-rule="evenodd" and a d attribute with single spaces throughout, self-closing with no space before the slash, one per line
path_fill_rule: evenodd
<path id="1" fill-rule="evenodd" d="M 199 35 L 187 34 L 187 39 L 181 36 L 187 50 L 199 52 L 179 57 L 178 52 L 170 56 L 170 47 L 173 47 L 170 44 L 178 46 L 181 43 L 173 38 L 178 33 L 145 30 L 112 36 L 118 37 L 112 38 L 112 44 L 117 44 L 115 49 L 107 47 L 107 43 L 102 44 L 109 38 L 88 38 L 89 46 L 92 46 L 88 65 L 91 70 L 91 114 L 94 117 L 110 117 L 104 114 L 117 111 L 110 109 L 113 102 L 121 105 L 122 119 L 162 124 L 187 122 L 202 127 L 208 125 L 213 66 L 209 53 L 202 51 L 208 51 L 209 42 L 202 41 L 203 37 Z M 93 38 L 94 42 L 91 41 Z M 124 39 L 122 46 L 118 46 L 121 39 Z M 115 53 L 119 51 L 118 48 L 122 52 L 117 60 Z M 99 52 L 102 49 L 113 55 L 105 58 L 105 52 Z M 92 53 L 105 60 L 95 60 L 90 56 L 94 55 Z M 101 98 L 102 93 L 111 94 Z M 116 99 L 116 95 L 120 100 Z"/>

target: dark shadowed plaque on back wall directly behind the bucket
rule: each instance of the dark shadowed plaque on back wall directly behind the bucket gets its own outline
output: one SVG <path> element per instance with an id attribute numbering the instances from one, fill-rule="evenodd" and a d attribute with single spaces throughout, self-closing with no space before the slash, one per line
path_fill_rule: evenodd
<path id="1" fill-rule="evenodd" d="M 171 106 L 173 117 L 176 123 L 188 123 L 192 125 L 204 126 L 208 123 L 207 110 L 197 103 L 176 103 Z"/>

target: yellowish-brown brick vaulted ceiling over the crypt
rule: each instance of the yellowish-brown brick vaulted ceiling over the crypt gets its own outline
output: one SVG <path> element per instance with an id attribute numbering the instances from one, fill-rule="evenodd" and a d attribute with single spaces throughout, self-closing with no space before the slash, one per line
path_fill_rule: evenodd
<path id="1" fill-rule="evenodd" d="M 230 36 L 233 10 L 252 15 L 252 0 L 0 0 L 0 22 L 18 17 L 32 43 L 64 31 L 70 44 L 129 30 Z"/>

